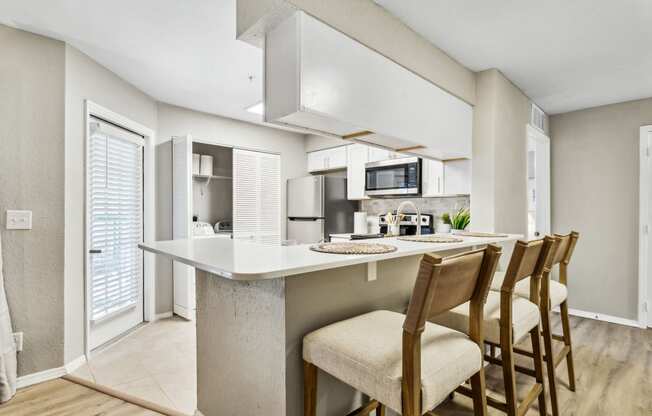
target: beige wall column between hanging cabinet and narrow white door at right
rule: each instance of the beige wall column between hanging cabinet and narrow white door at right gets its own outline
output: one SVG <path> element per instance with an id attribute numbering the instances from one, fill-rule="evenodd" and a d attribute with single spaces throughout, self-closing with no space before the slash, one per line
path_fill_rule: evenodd
<path id="1" fill-rule="evenodd" d="M 498 70 L 480 72 L 476 81 L 472 224 L 526 235 L 530 100 Z"/>

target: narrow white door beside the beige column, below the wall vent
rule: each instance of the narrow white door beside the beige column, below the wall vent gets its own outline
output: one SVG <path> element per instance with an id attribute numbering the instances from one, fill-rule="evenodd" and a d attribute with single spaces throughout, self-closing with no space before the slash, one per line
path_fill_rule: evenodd
<path id="1" fill-rule="evenodd" d="M 527 126 L 528 238 L 550 234 L 550 138 Z"/>

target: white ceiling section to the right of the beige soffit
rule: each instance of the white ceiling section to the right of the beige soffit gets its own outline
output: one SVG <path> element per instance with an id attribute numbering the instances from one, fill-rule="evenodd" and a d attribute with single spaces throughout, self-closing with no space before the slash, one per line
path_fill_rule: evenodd
<path id="1" fill-rule="evenodd" d="M 652 97 L 650 0 L 375 0 L 473 71 L 500 69 L 547 113 Z"/>

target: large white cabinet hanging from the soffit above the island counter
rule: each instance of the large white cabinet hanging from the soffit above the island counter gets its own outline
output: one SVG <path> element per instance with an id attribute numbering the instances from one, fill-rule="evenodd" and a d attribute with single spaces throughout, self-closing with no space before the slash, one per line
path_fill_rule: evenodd
<path id="1" fill-rule="evenodd" d="M 303 12 L 266 34 L 265 121 L 439 160 L 471 156 L 469 104 Z"/>

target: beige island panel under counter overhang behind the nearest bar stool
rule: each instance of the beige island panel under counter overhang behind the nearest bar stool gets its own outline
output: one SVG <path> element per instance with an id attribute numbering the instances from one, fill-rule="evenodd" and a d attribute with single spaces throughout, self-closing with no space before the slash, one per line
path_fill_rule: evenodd
<path id="1" fill-rule="evenodd" d="M 303 414 L 302 340 L 307 333 L 366 312 L 404 313 L 421 256 L 378 262 L 378 278 L 367 281 L 367 265 L 306 273 L 286 278 L 287 415 Z M 396 334 L 401 337 L 401 334 Z M 318 379 L 318 416 L 341 416 L 355 409 L 359 392 L 324 372 Z"/>

